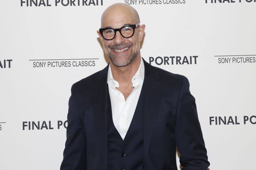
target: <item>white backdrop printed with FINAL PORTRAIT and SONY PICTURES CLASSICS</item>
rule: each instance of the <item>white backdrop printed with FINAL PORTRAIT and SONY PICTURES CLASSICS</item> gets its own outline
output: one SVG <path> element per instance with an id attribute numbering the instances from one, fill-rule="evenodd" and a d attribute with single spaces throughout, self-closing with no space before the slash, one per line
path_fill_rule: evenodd
<path id="1" fill-rule="evenodd" d="M 255 0 L 1 0 L 0 168 L 60 168 L 70 88 L 107 65 L 96 31 L 118 2 L 146 25 L 142 57 L 188 77 L 209 169 L 255 170 Z"/>

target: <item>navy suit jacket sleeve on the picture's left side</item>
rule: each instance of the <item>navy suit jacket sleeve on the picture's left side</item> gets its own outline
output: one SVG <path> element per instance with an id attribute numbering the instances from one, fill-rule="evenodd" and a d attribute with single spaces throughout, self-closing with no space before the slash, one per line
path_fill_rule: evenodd
<path id="1" fill-rule="evenodd" d="M 68 102 L 67 140 L 60 170 L 86 170 L 86 134 L 74 87 L 71 88 Z"/>

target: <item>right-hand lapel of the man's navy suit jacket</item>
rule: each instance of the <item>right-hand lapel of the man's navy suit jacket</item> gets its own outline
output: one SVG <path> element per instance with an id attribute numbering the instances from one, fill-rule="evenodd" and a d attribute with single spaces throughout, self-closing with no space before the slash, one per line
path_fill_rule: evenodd
<path id="1" fill-rule="evenodd" d="M 143 142 L 144 155 L 147 155 L 150 139 L 153 132 L 154 120 L 159 107 L 160 95 L 158 93 L 160 85 L 156 81 L 158 73 L 152 69 L 144 59 L 145 76 L 143 82 L 144 103 L 143 103 Z"/>

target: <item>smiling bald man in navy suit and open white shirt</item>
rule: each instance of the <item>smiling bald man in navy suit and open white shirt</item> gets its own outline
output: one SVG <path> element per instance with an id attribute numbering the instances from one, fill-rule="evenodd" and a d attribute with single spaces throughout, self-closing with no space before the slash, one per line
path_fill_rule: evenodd
<path id="1" fill-rule="evenodd" d="M 71 88 L 61 170 L 183 170 L 210 165 L 188 79 L 140 55 L 145 25 L 113 4 L 97 31 L 109 64 Z"/>

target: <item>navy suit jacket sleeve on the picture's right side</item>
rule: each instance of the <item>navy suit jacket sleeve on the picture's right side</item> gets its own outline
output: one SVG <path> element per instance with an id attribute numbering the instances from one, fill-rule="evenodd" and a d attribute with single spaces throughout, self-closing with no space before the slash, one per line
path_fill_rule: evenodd
<path id="1" fill-rule="evenodd" d="M 196 111 L 195 98 L 190 94 L 189 82 L 184 77 L 178 98 L 175 140 L 180 152 L 182 170 L 207 170 L 207 152 Z"/>

